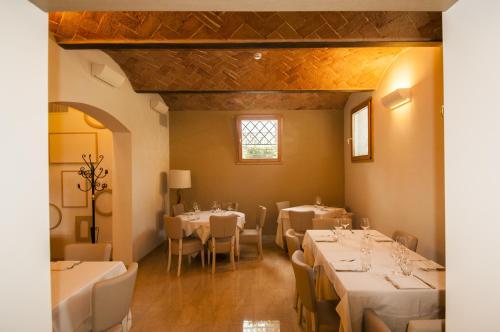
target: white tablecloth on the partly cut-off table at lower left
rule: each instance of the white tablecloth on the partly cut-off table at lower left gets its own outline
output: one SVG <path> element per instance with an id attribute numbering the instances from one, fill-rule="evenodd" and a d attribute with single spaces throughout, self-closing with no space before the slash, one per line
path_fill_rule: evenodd
<path id="1" fill-rule="evenodd" d="M 67 262 L 51 263 L 52 330 L 90 331 L 92 287 L 98 281 L 125 273 L 127 269 L 122 262 L 82 262 L 64 270 L 65 266 L 71 265 Z"/>

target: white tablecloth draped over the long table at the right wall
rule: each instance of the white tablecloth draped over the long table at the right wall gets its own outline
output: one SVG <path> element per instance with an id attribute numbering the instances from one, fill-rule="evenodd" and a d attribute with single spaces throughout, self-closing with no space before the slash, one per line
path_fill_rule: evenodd
<path id="1" fill-rule="evenodd" d="M 330 231 L 307 231 L 303 247 L 308 263 L 320 267 L 320 275 L 328 278 L 340 298 L 337 313 L 341 320 L 341 330 L 358 332 L 362 330 L 363 310 L 373 309 L 393 332 L 406 331 L 411 319 L 438 318 L 444 308 L 445 272 L 428 271 L 415 267 L 414 274 L 423 278 L 436 289 L 396 289 L 386 279 L 399 269 L 391 257 L 391 242 L 374 242 L 372 271 L 336 272 L 330 262 L 342 259 L 360 258 L 362 231 L 348 233 L 340 244 L 338 242 L 316 242 L 314 238 L 324 238 Z M 377 231 L 373 235 L 382 236 Z M 410 259 L 426 261 L 417 253 L 411 252 Z"/>

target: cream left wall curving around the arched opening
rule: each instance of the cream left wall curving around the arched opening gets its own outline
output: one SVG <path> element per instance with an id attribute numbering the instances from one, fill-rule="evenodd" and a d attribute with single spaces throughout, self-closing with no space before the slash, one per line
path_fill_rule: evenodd
<path id="1" fill-rule="evenodd" d="M 135 93 L 128 80 L 120 88 L 114 88 L 91 76 L 92 62 L 106 64 L 122 73 L 105 53 L 97 50 L 67 51 L 50 41 L 49 59 L 50 101 L 92 105 L 118 120 L 128 131 L 117 133 L 105 119 L 91 114 L 114 132 L 115 169 L 125 167 L 131 160 L 131 169 L 118 169 L 113 174 L 113 195 L 117 191 L 131 191 L 128 203 L 121 206 L 113 203 L 113 216 L 130 208 L 132 216 L 131 220 L 126 220 L 127 215 L 113 218 L 113 243 L 122 248 L 129 245 L 132 250 L 120 254 L 120 259 L 130 260 L 131 254 L 134 260 L 139 260 L 162 241 L 160 216 L 164 210 L 164 195 L 161 193 L 161 173 L 169 167 L 168 128 L 160 125 L 159 114 L 150 109 L 152 95 Z M 85 111 L 82 107 L 76 108 Z M 131 143 L 131 150 L 117 151 L 117 147 L 127 141 Z M 127 188 L 117 188 L 118 180 L 129 176 L 132 181 Z M 115 224 L 115 219 L 118 224 Z"/>

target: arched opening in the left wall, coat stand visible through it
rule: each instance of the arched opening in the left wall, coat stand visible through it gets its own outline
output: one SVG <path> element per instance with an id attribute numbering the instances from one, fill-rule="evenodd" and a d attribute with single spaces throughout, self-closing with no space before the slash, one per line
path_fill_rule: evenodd
<path id="1" fill-rule="evenodd" d="M 132 257 L 131 139 L 129 130 L 104 110 L 75 102 L 49 103 L 49 188 L 51 259 L 64 258 L 64 246 L 90 242 L 92 195 L 78 171 L 88 168 L 82 155 L 108 170 L 98 180 L 95 223 L 98 243 L 111 243 L 113 259 Z M 104 172 L 101 173 L 104 175 Z M 78 188 L 80 185 L 80 189 Z M 82 191 L 83 189 L 84 191 Z"/>

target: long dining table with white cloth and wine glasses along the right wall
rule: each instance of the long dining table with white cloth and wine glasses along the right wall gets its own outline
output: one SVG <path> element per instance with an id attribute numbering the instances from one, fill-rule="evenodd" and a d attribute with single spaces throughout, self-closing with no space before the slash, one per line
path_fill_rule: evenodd
<path id="1" fill-rule="evenodd" d="M 366 241 L 372 248 L 369 269 L 363 268 L 361 251 Z M 315 267 L 318 297 L 338 299 L 340 331 L 361 332 L 365 309 L 374 310 L 393 332 L 406 331 L 413 319 L 443 317 L 445 268 L 407 250 L 413 271 L 405 275 L 393 246 L 391 238 L 376 230 L 306 232 L 305 260 Z"/>

